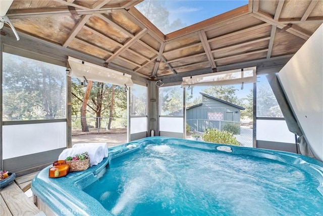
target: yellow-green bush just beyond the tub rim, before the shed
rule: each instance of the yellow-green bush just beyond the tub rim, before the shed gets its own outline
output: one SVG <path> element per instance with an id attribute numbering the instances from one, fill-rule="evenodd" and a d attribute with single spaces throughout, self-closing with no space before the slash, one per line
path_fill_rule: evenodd
<path id="1" fill-rule="evenodd" d="M 204 142 L 240 145 L 232 133 L 228 131 L 219 131 L 218 129 L 206 129 L 202 135 L 202 138 Z"/>

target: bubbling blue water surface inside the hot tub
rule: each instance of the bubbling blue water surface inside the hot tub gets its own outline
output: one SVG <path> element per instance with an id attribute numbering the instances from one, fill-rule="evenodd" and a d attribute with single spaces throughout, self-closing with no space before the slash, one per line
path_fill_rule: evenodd
<path id="1" fill-rule="evenodd" d="M 319 185 L 277 160 L 161 143 L 112 159 L 83 190 L 115 215 L 323 215 Z"/>

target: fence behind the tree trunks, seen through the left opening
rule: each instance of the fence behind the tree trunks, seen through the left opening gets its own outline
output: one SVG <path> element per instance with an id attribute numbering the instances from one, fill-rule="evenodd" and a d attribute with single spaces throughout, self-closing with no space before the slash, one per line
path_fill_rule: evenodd
<path id="1" fill-rule="evenodd" d="M 72 130 L 82 130 L 81 123 L 84 123 L 82 119 L 86 119 L 88 129 L 96 129 L 100 133 L 100 129 L 104 128 L 107 130 L 109 119 L 111 121 L 111 128 L 127 128 L 127 118 L 109 118 L 109 117 L 73 117 Z"/>

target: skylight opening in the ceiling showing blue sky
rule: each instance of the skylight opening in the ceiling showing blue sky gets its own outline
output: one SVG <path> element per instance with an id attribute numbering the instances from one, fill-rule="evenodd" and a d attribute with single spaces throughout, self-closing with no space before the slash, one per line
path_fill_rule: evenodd
<path id="1" fill-rule="evenodd" d="M 168 34 L 247 4 L 248 0 L 145 0 L 135 8 Z"/>

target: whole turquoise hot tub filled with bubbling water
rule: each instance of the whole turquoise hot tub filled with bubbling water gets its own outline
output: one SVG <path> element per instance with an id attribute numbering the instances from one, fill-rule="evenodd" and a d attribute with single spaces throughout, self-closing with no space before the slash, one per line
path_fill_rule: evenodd
<path id="1" fill-rule="evenodd" d="M 62 215 L 323 215 L 323 163 L 303 155 L 149 137 L 32 191 Z"/>

